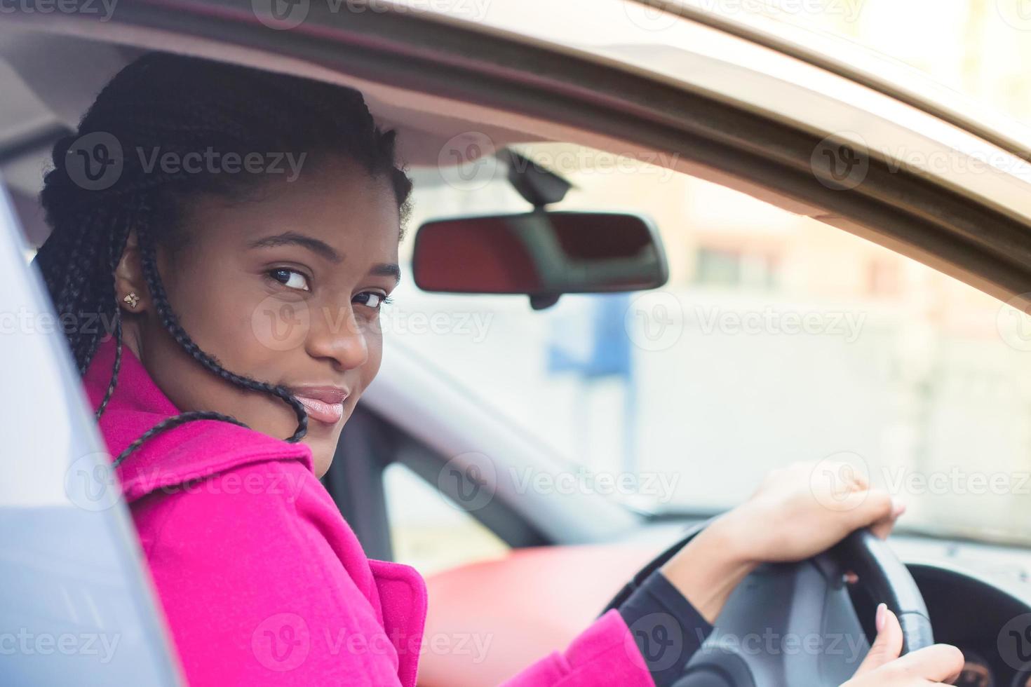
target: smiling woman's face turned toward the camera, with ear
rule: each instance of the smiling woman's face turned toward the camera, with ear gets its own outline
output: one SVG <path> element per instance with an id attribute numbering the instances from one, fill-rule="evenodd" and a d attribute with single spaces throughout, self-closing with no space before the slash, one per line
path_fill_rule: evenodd
<path id="1" fill-rule="evenodd" d="M 303 442 L 320 477 L 379 369 L 379 306 L 398 281 L 399 221 L 389 178 L 336 162 L 269 181 L 246 200 L 191 200 L 188 241 L 158 252 L 168 302 L 197 345 L 305 405 Z M 127 260 L 125 273 L 138 272 L 138 252 Z M 120 301 L 130 288 L 120 280 Z M 294 433 L 286 403 L 203 369 L 161 324 L 145 286 L 132 289 L 142 301 L 124 317 L 126 345 L 177 408 L 232 415 L 280 439 Z"/>

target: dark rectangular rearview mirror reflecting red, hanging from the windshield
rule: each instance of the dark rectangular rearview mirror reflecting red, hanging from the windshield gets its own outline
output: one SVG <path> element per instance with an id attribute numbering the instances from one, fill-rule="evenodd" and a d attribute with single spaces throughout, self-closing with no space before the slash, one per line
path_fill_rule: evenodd
<path id="1" fill-rule="evenodd" d="M 550 305 L 562 294 L 655 288 L 669 268 L 645 217 L 538 210 L 423 225 L 412 274 L 428 291 L 524 294 Z"/>

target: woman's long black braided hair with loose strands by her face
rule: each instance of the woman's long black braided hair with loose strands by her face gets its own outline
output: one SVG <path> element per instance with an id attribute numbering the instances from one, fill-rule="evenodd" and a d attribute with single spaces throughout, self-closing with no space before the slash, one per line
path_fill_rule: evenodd
<path id="1" fill-rule="evenodd" d="M 203 351 L 179 324 L 158 273 L 156 250 L 174 250 L 190 237 L 184 217 L 200 194 L 240 198 L 267 176 L 241 168 L 168 169 L 155 165 L 149 151 L 241 158 L 252 152 L 303 153 L 306 165 L 343 157 L 368 174 L 390 180 L 402 224 L 411 181 L 395 163 L 395 132 L 383 132 L 362 94 L 321 81 L 263 72 L 198 58 L 153 53 L 119 72 L 97 96 L 78 131 L 53 149 L 54 168 L 43 179 L 40 202 L 52 233 L 35 263 L 62 322 L 95 316 L 106 328 L 65 327 L 72 355 L 84 375 L 104 330 L 115 341 L 107 390 L 97 409 L 100 419 L 118 384 L 122 364 L 122 319 L 114 271 L 135 231 L 143 278 L 155 309 L 171 337 L 212 374 L 250 390 L 281 400 L 307 432 L 303 405 L 280 385 L 226 370 Z M 91 174 L 100 162 L 102 175 Z M 317 160 L 312 160 L 315 158 Z M 166 418 L 130 444 L 117 467 L 151 437 L 194 420 L 243 425 L 214 411 L 191 411 Z"/>

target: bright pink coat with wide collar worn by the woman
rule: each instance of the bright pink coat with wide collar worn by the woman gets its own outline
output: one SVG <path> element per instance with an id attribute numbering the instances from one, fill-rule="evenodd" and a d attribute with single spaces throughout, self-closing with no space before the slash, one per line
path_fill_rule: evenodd
<path id="1" fill-rule="evenodd" d="M 87 371 L 94 408 L 113 359 L 107 340 Z M 100 419 L 110 453 L 177 412 L 123 348 Z M 189 422 L 144 443 L 118 474 L 191 685 L 415 684 L 426 584 L 413 568 L 365 556 L 307 446 Z M 626 623 L 609 611 L 507 684 L 654 683 Z"/>

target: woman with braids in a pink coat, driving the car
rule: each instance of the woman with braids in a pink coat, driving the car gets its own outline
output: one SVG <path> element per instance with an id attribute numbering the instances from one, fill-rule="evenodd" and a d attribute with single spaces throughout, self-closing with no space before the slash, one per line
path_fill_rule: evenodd
<path id="1" fill-rule="evenodd" d="M 413 685 L 423 580 L 367 559 L 319 482 L 379 367 L 400 274 L 411 183 L 393 133 L 355 91 L 151 55 L 53 158 L 36 262 L 60 313 L 112 322 L 68 341 L 190 683 Z M 900 509 L 849 486 L 829 510 L 807 467 L 774 474 L 511 684 L 670 684 L 757 563 L 887 534 Z M 657 610 L 696 638 L 672 667 L 628 629 Z M 876 622 L 850 685 L 929 684 L 962 664 L 943 646 L 893 660 L 898 622 L 883 607 Z"/>

